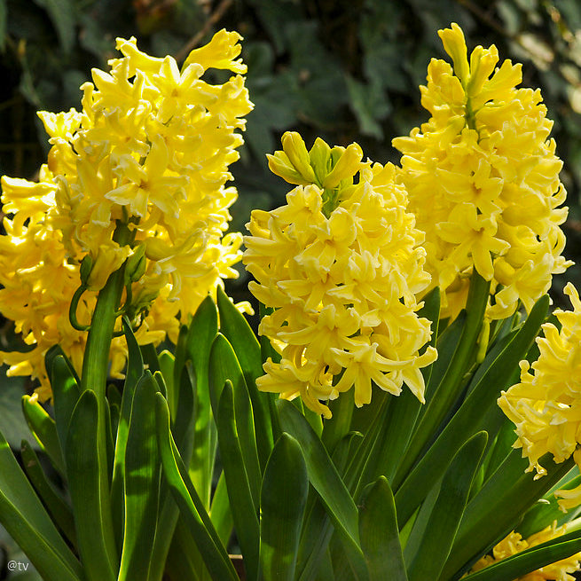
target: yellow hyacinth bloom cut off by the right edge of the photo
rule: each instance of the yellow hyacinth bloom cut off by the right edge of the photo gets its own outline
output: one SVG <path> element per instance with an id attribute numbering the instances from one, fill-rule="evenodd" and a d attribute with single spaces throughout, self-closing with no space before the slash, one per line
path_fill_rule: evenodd
<path id="1" fill-rule="evenodd" d="M 536 478 L 546 474 L 538 460 L 547 452 L 557 463 L 573 455 L 581 467 L 581 301 L 571 283 L 565 294 L 573 310 L 554 311 L 561 330 L 543 325 L 537 361 L 522 361 L 521 382 L 499 397 L 500 408 L 516 426 L 514 447 L 522 448 L 523 458 L 529 459 L 527 471 L 535 469 Z M 581 505 L 581 486 L 556 495 L 564 509 Z"/>

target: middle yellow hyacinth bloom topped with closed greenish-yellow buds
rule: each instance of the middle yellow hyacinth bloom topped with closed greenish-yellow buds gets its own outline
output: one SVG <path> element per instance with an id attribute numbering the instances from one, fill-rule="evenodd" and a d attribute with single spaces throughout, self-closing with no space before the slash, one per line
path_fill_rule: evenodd
<path id="1" fill-rule="evenodd" d="M 355 404 L 368 404 L 372 381 L 395 395 L 405 381 L 423 401 L 420 367 L 436 349 L 419 354 L 431 332 L 416 294 L 429 276 L 395 167 L 363 162 L 357 144 L 317 139 L 308 152 L 296 133 L 282 144 L 270 168 L 297 187 L 287 205 L 253 211 L 244 240 L 243 262 L 257 281 L 248 287 L 274 309 L 259 333 L 281 355 L 264 364 L 259 388 L 300 395 L 326 417 L 320 400 L 355 386 Z"/>

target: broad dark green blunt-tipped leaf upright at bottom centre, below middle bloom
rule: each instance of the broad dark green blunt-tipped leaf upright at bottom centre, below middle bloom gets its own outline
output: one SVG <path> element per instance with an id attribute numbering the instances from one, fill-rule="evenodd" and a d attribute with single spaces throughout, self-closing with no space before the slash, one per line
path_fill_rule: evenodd
<path id="1" fill-rule="evenodd" d="M 294 581 L 309 480 L 301 447 L 283 434 L 266 465 L 261 491 L 260 563 L 264 581 Z"/>

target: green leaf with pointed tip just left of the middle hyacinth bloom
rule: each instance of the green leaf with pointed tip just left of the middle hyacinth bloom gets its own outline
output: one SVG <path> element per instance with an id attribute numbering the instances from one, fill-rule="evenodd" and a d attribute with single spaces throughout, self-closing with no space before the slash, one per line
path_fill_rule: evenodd
<path id="1" fill-rule="evenodd" d="M 220 331 L 234 349 L 242 373 L 244 373 L 248 394 L 252 402 L 258 458 L 261 468 L 264 469 L 272 450 L 273 441 L 269 395 L 256 389 L 256 378 L 263 375 L 260 344 L 244 315 L 239 312 L 220 287 L 217 288 L 217 297 Z"/>

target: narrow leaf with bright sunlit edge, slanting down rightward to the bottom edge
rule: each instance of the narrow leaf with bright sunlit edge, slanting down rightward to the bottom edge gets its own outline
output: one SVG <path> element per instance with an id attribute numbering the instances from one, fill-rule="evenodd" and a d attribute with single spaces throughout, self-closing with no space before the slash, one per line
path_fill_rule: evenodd
<path id="1" fill-rule="evenodd" d="M 156 395 L 155 414 L 157 442 L 161 455 L 163 474 L 179 506 L 192 537 L 200 549 L 200 554 L 210 575 L 215 581 L 238 581 L 232 562 L 218 537 L 214 526 L 195 491 L 187 474 L 184 461 L 169 428 L 169 408 L 161 394 Z"/>

